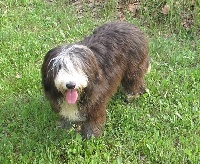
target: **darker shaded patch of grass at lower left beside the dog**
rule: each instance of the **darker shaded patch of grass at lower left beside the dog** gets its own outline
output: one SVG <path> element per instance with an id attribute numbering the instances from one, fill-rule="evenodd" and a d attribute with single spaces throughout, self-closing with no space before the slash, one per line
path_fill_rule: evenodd
<path id="1" fill-rule="evenodd" d="M 7 100 L 0 114 L 0 153 L 2 157 L 19 158 L 27 153 L 62 149 L 76 137 L 73 129 L 56 126 L 57 115 L 41 96 L 18 96 Z M 31 157 L 30 157 L 31 158 Z"/>

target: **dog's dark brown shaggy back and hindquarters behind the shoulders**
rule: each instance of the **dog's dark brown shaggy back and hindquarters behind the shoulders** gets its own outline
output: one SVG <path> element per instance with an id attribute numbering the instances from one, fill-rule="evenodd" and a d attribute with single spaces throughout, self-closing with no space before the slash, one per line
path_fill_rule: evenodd
<path id="1" fill-rule="evenodd" d="M 144 33 L 133 24 L 127 22 L 104 24 L 80 43 L 94 53 L 98 65 L 109 82 L 115 85 L 117 81 L 122 81 L 127 92 L 133 90 L 128 87 L 132 86 L 133 76 L 138 77 L 141 74 L 142 77 L 148 70 L 148 41 Z M 137 83 L 143 84 L 142 81 Z M 138 86 L 136 88 L 135 94 L 143 92 Z"/>

